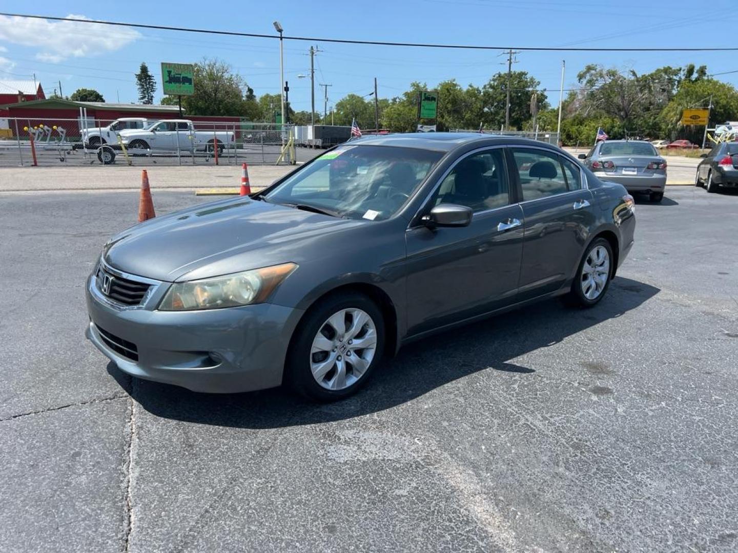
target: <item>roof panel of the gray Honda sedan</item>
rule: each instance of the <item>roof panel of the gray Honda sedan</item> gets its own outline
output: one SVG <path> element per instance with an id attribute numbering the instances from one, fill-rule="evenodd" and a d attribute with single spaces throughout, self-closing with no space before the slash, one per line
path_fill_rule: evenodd
<path id="1" fill-rule="evenodd" d="M 420 150 L 438 150 L 449 152 L 459 147 L 478 144 L 492 146 L 498 144 L 531 145 L 554 147 L 547 142 L 531 139 L 520 139 L 513 136 L 483 133 L 397 133 L 387 135 L 370 135 L 360 139 L 344 142 L 342 145 L 397 146 L 418 148 Z"/>

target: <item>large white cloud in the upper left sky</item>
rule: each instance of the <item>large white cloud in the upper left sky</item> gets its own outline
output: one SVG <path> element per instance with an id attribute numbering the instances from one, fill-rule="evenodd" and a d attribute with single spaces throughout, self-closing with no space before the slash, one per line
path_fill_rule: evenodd
<path id="1" fill-rule="evenodd" d="M 89 19 L 84 15 L 67 17 Z M 0 15 L 0 41 L 38 48 L 35 57 L 40 61 L 59 62 L 114 52 L 140 36 L 138 31 L 125 27 Z M 0 47 L 3 48 L 0 51 L 7 50 Z"/>

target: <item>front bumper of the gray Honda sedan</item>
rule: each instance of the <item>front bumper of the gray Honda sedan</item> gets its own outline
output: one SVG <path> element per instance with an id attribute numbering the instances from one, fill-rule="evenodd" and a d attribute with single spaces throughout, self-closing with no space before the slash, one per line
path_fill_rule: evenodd
<path id="1" fill-rule="evenodd" d="M 167 282 L 142 305 L 114 305 L 87 279 L 86 336 L 129 375 L 193 390 L 247 392 L 279 386 L 302 311 L 260 304 L 201 311 L 158 311 Z M 135 351 L 135 353 L 133 353 Z"/>

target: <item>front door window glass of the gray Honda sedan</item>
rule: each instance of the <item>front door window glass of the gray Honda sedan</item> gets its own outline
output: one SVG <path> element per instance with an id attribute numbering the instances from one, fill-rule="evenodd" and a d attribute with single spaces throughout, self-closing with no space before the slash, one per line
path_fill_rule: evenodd
<path id="1" fill-rule="evenodd" d="M 457 204 L 474 212 L 510 203 L 503 150 L 475 153 L 459 161 L 435 191 L 431 205 Z"/>

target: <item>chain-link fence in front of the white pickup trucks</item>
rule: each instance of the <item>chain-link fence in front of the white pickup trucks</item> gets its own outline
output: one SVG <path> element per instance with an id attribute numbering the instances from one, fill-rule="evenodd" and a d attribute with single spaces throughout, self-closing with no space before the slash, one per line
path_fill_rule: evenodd
<path id="1" fill-rule="evenodd" d="M 292 125 L 142 117 L 10 118 L 2 122 L 0 167 L 295 161 Z"/>

